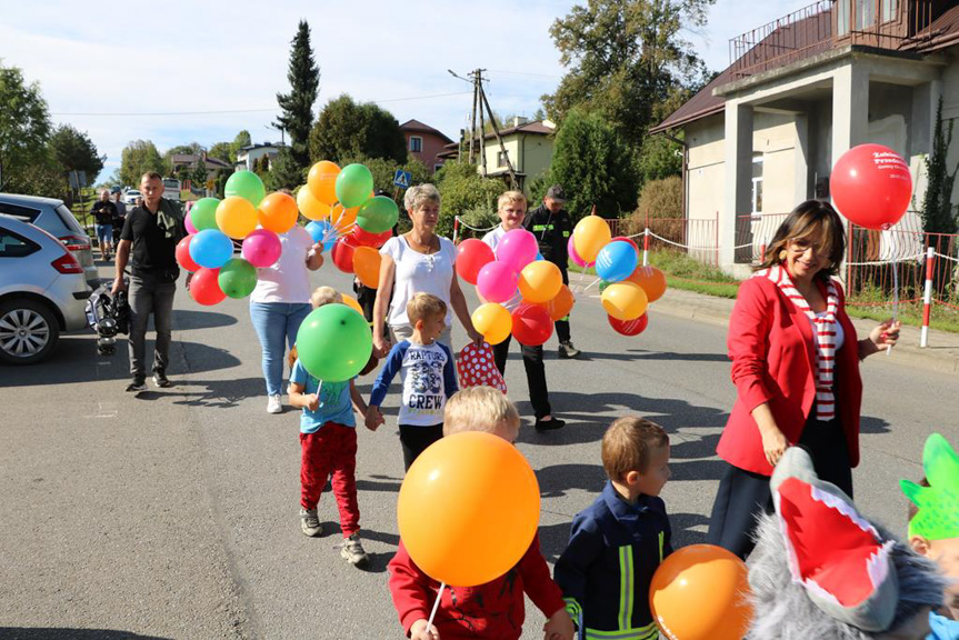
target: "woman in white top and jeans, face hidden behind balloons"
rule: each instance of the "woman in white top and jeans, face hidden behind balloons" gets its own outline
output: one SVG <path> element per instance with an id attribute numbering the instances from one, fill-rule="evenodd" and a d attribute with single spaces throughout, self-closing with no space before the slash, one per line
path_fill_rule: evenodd
<path id="1" fill-rule="evenodd" d="M 296 224 L 279 233 L 282 253 L 272 267 L 258 269 L 257 288 L 250 294 L 250 319 L 263 349 L 263 378 L 267 381 L 267 411 L 279 413 L 287 347 L 293 347 L 297 331 L 311 310 L 310 277 L 323 264 L 322 244 L 314 244 L 310 232 Z"/>

